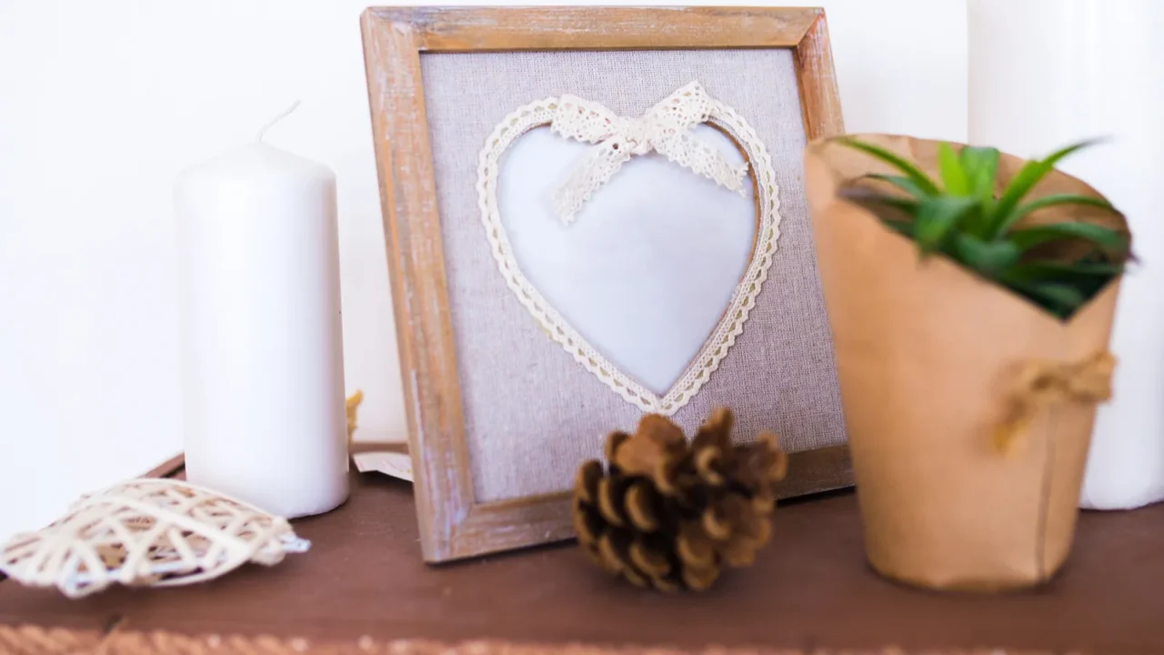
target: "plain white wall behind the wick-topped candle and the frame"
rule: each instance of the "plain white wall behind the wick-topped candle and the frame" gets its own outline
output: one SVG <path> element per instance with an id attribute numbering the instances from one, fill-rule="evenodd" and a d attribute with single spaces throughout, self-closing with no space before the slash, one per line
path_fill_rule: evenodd
<path id="1" fill-rule="evenodd" d="M 171 183 L 297 98 L 267 140 L 339 176 L 347 386 L 404 438 L 368 3 L 0 0 L 0 538 L 182 449 Z M 851 132 L 965 140 L 961 0 L 822 5 Z"/>

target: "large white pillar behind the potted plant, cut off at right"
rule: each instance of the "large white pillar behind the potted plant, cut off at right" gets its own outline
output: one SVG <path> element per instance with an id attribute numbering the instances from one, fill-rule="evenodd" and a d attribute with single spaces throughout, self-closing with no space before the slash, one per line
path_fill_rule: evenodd
<path id="1" fill-rule="evenodd" d="M 1083 505 L 1164 498 L 1164 2 L 970 0 L 970 140 L 1020 156 L 1110 136 L 1062 168 L 1127 213 L 1140 263 L 1126 277 Z"/>

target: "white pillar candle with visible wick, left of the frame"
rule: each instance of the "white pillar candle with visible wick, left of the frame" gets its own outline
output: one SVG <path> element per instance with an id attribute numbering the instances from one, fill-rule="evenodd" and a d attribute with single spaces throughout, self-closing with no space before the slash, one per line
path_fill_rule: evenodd
<path id="1" fill-rule="evenodd" d="M 261 139 L 175 184 L 186 474 L 293 517 L 348 494 L 335 175 Z"/>

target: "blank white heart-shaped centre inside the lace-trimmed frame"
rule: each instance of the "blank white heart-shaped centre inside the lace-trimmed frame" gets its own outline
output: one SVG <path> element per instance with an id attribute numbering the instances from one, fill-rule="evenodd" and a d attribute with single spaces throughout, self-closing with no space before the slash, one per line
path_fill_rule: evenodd
<path id="1" fill-rule="evenodd" d="M 718 129 L 693 129 L 732 163 Z M 537 128 L 501 160 L 497 210 L 530 283 L 625 375 L 665 395 L 737 294 L 757 240 L 757 200 L 658 154 L 636 156 L 563 225 L 552 196 L 594 146 Z"/>

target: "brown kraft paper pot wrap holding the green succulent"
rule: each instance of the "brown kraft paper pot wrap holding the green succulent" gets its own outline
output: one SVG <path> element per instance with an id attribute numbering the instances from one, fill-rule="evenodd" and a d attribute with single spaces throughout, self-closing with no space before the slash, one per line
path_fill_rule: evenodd
<path id="1" fill-rule="evenodd" d="M 937 141 L 857 138 L 937 176 Z M 1003 155 L 1000 184 L 1022 163 Z M 934 589 L 1042 583 L 1071 548 L 1095 403 L 1020 406 L 1031 389 L 1018 381 L 1043 364 L 1083 374 L 1106 354 L 1120 280 L 1060 321 L 952 260 L 920 259 L 913 241 L 838 193 L 868 172 L 890 171 L 825 140 L 805 152 L 868 559 L 889 578 Z M 1057 192 L 1099 195 L 1055 171 L 1031 198 Z M 1065 218 L 1127 228 L 1091 207 L 1048 207 L 1024 223 Z M 1030 409 L 1025 429 L 1014 423 L 1017 407 Z M 999 435 L 1010 436 L 1009 450 Z"/>

